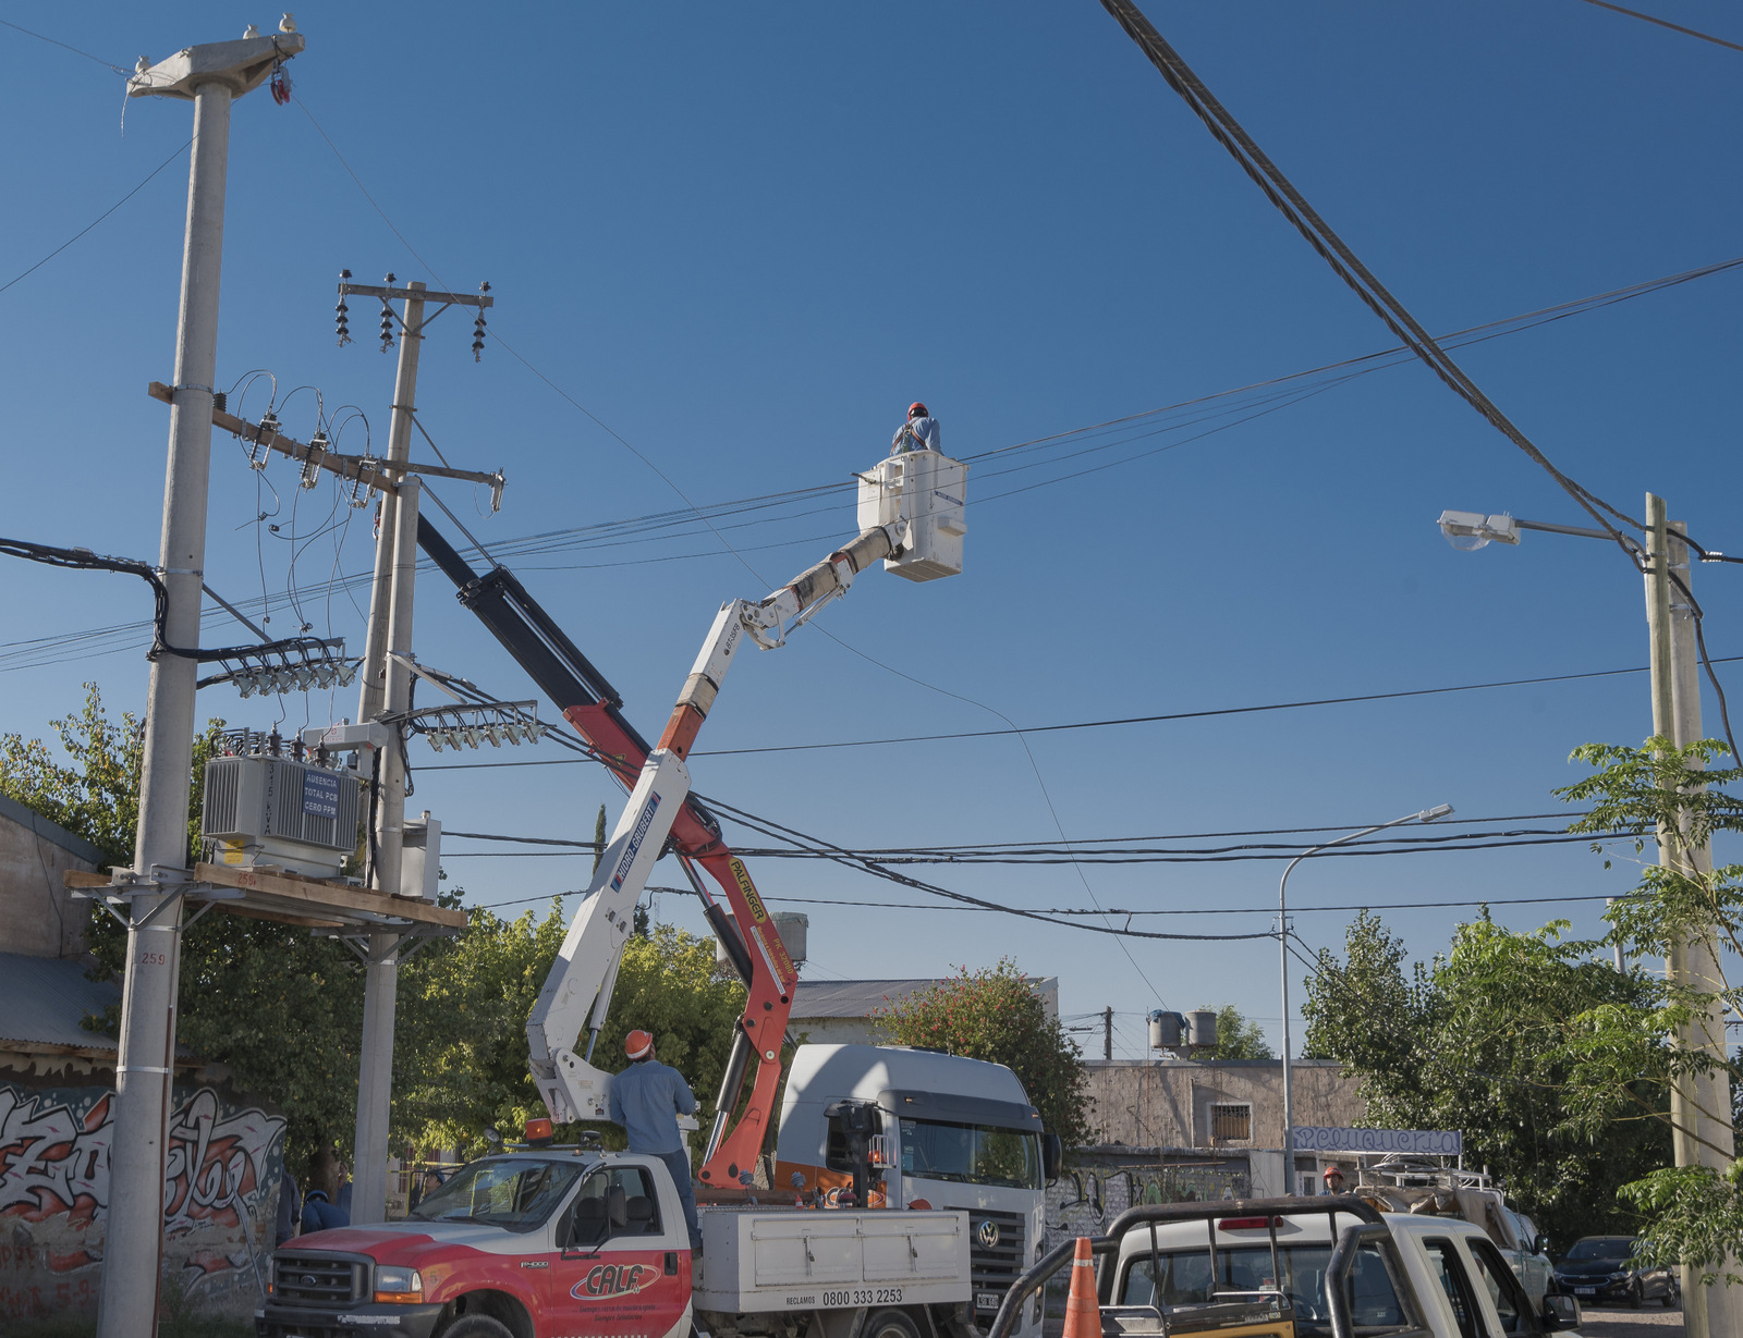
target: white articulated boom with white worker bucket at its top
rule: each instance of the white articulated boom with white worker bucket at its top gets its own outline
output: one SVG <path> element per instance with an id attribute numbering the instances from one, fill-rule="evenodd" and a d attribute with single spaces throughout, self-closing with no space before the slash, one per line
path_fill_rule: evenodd
<path id="1" fill-rule="evenodd" d="M 859 537 L 767 598 L 729 599 L 720 606 L 666 732 L 636 777 L 526 1021 L 533 1082 L 553 1120 L 610 1118 L 612 1075 L 593 1066 L 593 1042 L 605 1026 L 636 901 L 690 793 L 685 756 L 743 639 L 748 636 L 762 650 L 784 645 L 791 629 L 845 594 L 854 577 L 878 559 L 910 580 L 934 580 L 962 570 L 967 465 L 936 451 L 908 451 L 880 460 L 858 477 Z M 746 937 L 767 955 L 756 934 Z M 772 962 L 769 969 L 781 974 Z M 584 1023 L 591 1038 L 586 1054 L 575 1054 Z M 725 1113 L 716 1117 L 711 1141 L 718 1139 Z"/>

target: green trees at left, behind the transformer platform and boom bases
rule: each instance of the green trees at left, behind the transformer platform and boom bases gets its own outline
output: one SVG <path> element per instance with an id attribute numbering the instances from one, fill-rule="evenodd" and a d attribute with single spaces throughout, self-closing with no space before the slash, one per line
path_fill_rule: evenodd
<path id="1" fill-rule="evenodd" d="M 42 740 L 0 737 L 0 791 L 131 864 L 143 744 L 132 716 L 112 721 L 94 685 L 77 716 L 52 721 L 59 756 Z M 197 855 L 200 780 L 221 721 L 193 747 L 190 855 Z M 603 810 L 601 819 L 603 821 Z M 443 892 L 458 906 L 464 889 Z M 563 943 L 553 902 L 500 920 L 472 909 L 455 939 L 436 941 L 399 972 L 390 1139 L 396 1152 L 483 1150 L 481 1131 L 505 1132 L 542 1113 L 526 1071 L 526 1016 Z M 125 934 L 101 911 L 87 941 L 105 976 L 125 969 Z M 624 1033 L 654 1031 L 661 1058 L 697 1087 L 704 1115 L 720 1085 L 744 991 L 716 979 L 709 943 L 668 925 L 631 937 L 612 1016 L 600 1038 L 601 1068 L 621 1068 Z M 91 1019 L 112 1031 L 119 1017 Z M 363 967 L 356 955 L 307 929 L 214 911 L 181 944 L 180 1044 L 227 1064 L 234 1082 L 265 1098 L 288 1122 L 286 1155 L 307 1164 L 319 1146 L 349 1157 L 356 1127 Z M 601 1129 L 621 1143 L 615 1125 Z"/>

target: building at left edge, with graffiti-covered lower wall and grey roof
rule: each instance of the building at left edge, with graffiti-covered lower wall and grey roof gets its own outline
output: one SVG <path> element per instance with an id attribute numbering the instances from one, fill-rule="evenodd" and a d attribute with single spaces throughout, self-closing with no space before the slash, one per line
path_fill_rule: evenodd
<path id="1" fill-rule="evenodd" d="M 92 1317 L 103 1272 L 115 1131 L 115 1037 L 84 1026 L 120 1000 L 91 979 L 91 902 L 63 869 L 103 862 L 89 841 L 0 796 L 0 1329 Z M 178 1047 L 164 1200 L 164 1270 L 211 1314 L 265 1296 L 284 1118 Z"/>

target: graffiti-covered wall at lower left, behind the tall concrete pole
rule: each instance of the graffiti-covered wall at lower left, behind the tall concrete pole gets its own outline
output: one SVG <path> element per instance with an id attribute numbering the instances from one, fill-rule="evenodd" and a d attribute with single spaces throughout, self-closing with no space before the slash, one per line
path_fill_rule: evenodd
<path id="1" fill-rule="evenodd" d="M 113 1129 L 113 1087 L 0 1071 L 0 1321 L 96 1315 Z M 166 1284 L 206 1312 L 251 1312 L 272 1253 L 284 1120 L 225 1085 L 178 1084 L 167 1134 Z"/>

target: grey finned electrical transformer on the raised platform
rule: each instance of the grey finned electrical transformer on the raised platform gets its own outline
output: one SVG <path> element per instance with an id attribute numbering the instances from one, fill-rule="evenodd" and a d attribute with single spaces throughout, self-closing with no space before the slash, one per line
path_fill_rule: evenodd
<path id="1" fill-rule="evenodd" d="M 200 836 L 216 864 L 272 864 L 338 878 L 357 848 L 361 784 L 293 758 L 213 758 L 206 763 Z"/>

